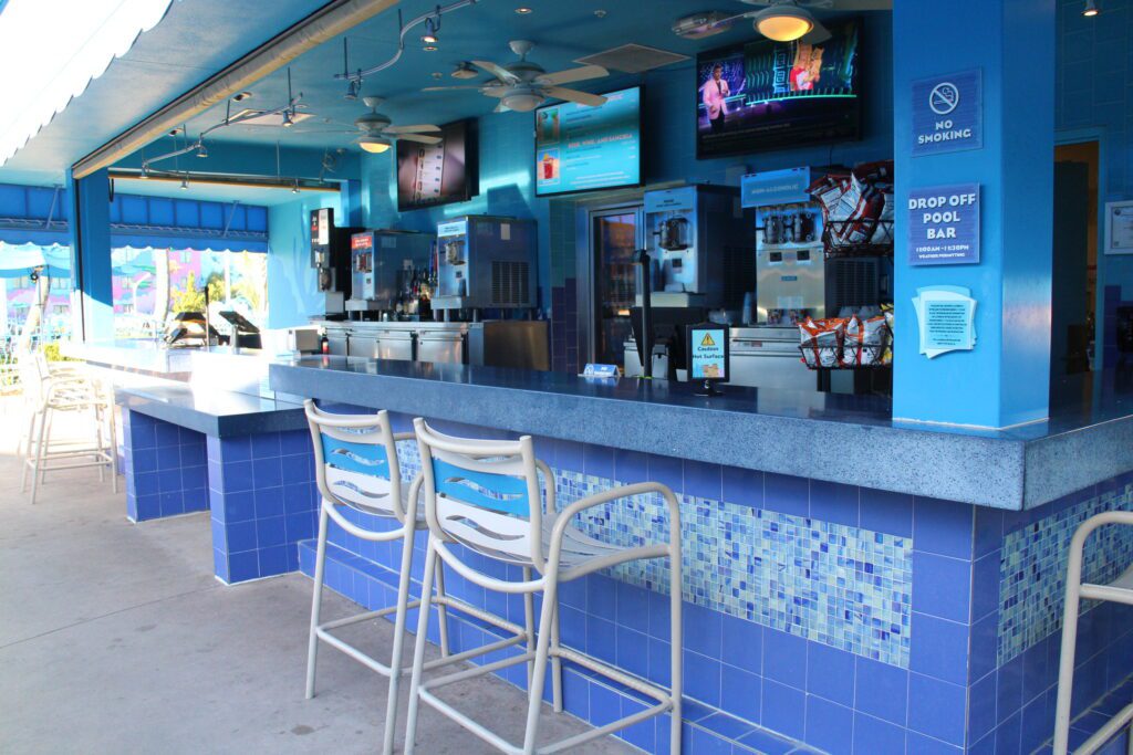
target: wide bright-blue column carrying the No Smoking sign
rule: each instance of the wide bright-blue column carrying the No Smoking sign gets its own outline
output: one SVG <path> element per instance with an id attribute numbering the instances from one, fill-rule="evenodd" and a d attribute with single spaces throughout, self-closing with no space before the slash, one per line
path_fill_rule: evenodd
<path id="1" fill-rule="evenodd" d="M 1055 12 L 1055 0 L 894 3 L 895 419 L 1003 428 L 1048 414 Z M 913 157 L 913 83 L 972 69 L 982 147 Z M 909 265 L 910 190 L 963 183 L 981 188 L 981 261 Z M 912 299 L 927 285 L 971 290 L 973 351 L 918 353 Z"/>

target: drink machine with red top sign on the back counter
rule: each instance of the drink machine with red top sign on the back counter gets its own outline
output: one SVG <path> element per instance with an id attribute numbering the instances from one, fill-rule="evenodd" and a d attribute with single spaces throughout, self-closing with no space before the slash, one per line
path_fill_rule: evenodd
<path id="1" fill-rule="evenodd" d="M 390 229 L 350 237 L 350 312 L 417 314 L 429 283 L 433 237 Z M 412 311 L 410 311 L 412 310 Z"/>

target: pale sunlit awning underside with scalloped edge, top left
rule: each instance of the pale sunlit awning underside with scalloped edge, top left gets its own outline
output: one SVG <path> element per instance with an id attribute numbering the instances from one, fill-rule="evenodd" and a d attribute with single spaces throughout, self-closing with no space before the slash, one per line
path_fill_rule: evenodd
<path id="1" fill-rule="evenodd" d="M 61 182 L 76 160 L 301 20 L 326 0 L 179 0 L 39 135 L 0 181 Z M 265 9 L 270 7 L 270 12 Z M 52 54 L 45 45 L 44 54 Z M 54 51 L 60 54 L 61 51 Z M 29 61 L 31 65 L 31 61 Z"/>

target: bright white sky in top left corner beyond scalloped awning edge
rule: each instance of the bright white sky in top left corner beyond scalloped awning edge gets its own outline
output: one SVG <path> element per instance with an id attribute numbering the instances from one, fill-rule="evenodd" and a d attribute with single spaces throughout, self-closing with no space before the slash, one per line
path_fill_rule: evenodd
<path id="1" fill-rule="evenodd" d="M 0 165 L 162 19 L 172 0 L 9 0 L 0 14 Z"/>

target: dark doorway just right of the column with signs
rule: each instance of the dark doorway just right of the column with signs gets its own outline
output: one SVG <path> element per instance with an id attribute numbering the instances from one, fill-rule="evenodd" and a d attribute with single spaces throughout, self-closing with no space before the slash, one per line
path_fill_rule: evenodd
<path id="1" fill-rule="evenodd" d="M 1098 141 L 1055 147 L 1050 388 L 1089 374 L 1096 360 Z"/>

